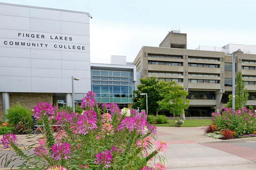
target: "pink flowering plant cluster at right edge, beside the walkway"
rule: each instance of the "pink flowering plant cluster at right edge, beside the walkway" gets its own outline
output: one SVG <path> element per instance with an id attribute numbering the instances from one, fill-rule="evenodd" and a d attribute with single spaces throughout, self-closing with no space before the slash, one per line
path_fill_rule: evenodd
<path id="1" fill-rule="evenodd" d="M 253 134 L 256 131 L 256 114 L 252 110 L 243 108 L 237 111 L 231 108 L 220 108 L 221 113 L 212 113 L 212 121 L 224 135 L 234 137 L 244 134 Z M 228 131 L 230 130 L 230 131 Z"/>

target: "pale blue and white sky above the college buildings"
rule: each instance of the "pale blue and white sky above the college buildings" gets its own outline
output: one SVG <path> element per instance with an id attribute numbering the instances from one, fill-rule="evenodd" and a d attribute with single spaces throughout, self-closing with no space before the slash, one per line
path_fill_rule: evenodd
<path id="1" fill-rule="evenodd" d="M 91 63 L 111 55 L 133 62 L 142 46 L 158 47 L 173 26 L 187 33 L 187 48 L 256 45 L 255 0 L 0 0 L 89 12 Z"/>

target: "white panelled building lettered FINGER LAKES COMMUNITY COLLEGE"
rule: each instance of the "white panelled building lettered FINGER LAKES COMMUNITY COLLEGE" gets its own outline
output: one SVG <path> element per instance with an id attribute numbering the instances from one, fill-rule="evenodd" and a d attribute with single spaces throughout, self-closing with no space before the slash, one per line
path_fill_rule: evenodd
<path id="1" fill-rule="evenodd" d="M 90 90 L 89 13 L 0 3 L 0 120 L 13 103 L 71 105 Z"/>

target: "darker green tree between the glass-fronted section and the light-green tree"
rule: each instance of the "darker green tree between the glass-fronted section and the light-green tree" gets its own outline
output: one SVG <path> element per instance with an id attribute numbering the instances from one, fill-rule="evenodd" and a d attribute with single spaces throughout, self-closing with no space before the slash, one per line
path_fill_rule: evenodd
<path id="1" fill-rule="evenodd" d="M 139 107 L 146 110 L 146 96 L 140 94 L 147 93 L 148 113 L 153 114 L 159 108 L 157 102 L 162 100 L 160 96 L 161 85 L 156 77 L 141 78 L 140 82 L 141 84 L 137 86 L 138 90 L 134 90 L 135 96 L 132 99 L 132 108 L 137 109 Z"/>

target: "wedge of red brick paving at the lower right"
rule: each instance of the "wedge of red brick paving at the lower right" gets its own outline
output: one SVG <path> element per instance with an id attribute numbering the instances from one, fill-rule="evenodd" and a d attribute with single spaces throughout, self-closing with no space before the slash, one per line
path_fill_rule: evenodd
<path id="1" fill-rule="evenodd" d="M 232 145 L 231 143 L 200 143 L 200 145 L 218 149 L 256 162 L 256 149 L 254 148 Z"/>

